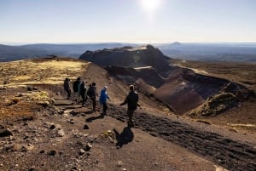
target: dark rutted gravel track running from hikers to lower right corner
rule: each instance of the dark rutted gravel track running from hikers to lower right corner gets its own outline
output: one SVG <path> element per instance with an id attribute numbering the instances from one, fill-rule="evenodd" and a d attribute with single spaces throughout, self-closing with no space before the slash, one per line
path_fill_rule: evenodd
<path id="1" fill-rule="evenodd" d="M 59 104 L 63 109 L 72 109 L 72 105 Z M 87 105 L 88 108 L 90 106 Z M 98 106 L 99 107 L 99 106 Z M 100 110 L 98 108 L 98 110 Z M 79 111 L 76 115 L 79 114 Z M 125 109 L 110 105 L 108 116 L 122 123 L 127 121 Z M 98 117 L 89 117 L 86 122 L 92 122 Z M 207 132 L 187 123 L 172 121 L 166 117 L 156 117 L 137 111 L 134 117 L 136 126 L 154 137 L 160 137 L 174 144 L 193 151 L 208 160 L 229 170 L 256 170 L 255 147 L 224 137 L 221 134 Z"/>

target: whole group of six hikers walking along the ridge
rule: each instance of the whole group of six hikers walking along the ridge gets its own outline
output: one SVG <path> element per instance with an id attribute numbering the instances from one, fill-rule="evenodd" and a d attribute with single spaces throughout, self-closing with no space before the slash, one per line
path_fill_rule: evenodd
<path id="1" fill-rule="evenodd" d="M 129 86 L 130 93 L 127 94 L 125 101 L 121 103 L 120 105 L 128 105 L 127 109 L 127 116 L 128 116 L 128 126 L 133 127 L 134 123 L 132 121 L 132 116 L 135 110 L 137 110 L 137 106 L 139 106 L 138 102 L 138 94 L 134 90 L 134 86 Z M 66 78 L 64 80 L 64 90 L 67 92 L 67 99 L 71 99 L 71 82 L 69 78 Z M 102 115 L 107 114 L 108 105 L 107 100 L 109 99 L 108 96 L 108 87 L 103 86 L 101 90 L 101 94 L 99 97 L 99 102 L 102 105 Z M 96 97 L 99 96 L 96 91 L 96 83 L 90 83 L 89 88 L 86 86 L 86 82 L 84 80 L 81 80 L 80 77 L 76 79 L 76 81 L 73 82 L 73 94 L 74 94 L 74 100 L 75 102 L 79 103 L 82 101 L 82 107 L 84 107 L 85 102 L 88 100 L 88 97 L 92 101 L 92 111 L 96 111 Z M 82 98 L 82 100 L 81 100 Z"/>

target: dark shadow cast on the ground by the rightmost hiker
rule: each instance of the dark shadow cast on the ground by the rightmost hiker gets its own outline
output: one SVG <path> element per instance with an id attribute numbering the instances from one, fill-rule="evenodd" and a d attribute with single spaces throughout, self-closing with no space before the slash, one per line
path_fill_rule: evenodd
<path id="1" fill-rule="evenodd" d="M 125 127 L 120 134 L 115 128 L 113 129 L 113 132 L 117 140 L 116 146 L 119 146 L 120 148 L 131 142 L 134 137 L 130 127 Z"/>

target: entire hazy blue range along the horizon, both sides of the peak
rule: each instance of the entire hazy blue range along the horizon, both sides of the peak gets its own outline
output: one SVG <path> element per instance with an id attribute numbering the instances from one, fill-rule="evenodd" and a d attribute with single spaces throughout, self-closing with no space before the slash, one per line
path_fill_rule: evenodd
<path id="1" fill-rule="evenodd" d="M 0 45 L 0 62 L 45 57 L 49 54 L 79 58 L 86 50 L 144 46 L 139 43 L 38 43 Z M 256 61 L 256 43 L 154 43 L 162 54 L 174 59 L 202 61 Z"/>

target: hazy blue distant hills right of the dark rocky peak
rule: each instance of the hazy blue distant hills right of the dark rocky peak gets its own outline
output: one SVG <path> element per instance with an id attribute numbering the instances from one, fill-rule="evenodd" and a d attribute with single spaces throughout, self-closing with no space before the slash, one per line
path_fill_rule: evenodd
<path id="1" fill-rule="evenodd" d="M 256 43 L 163 43 L 156 46 L 167 56 L 182 60 L 256 60 Z"/>

